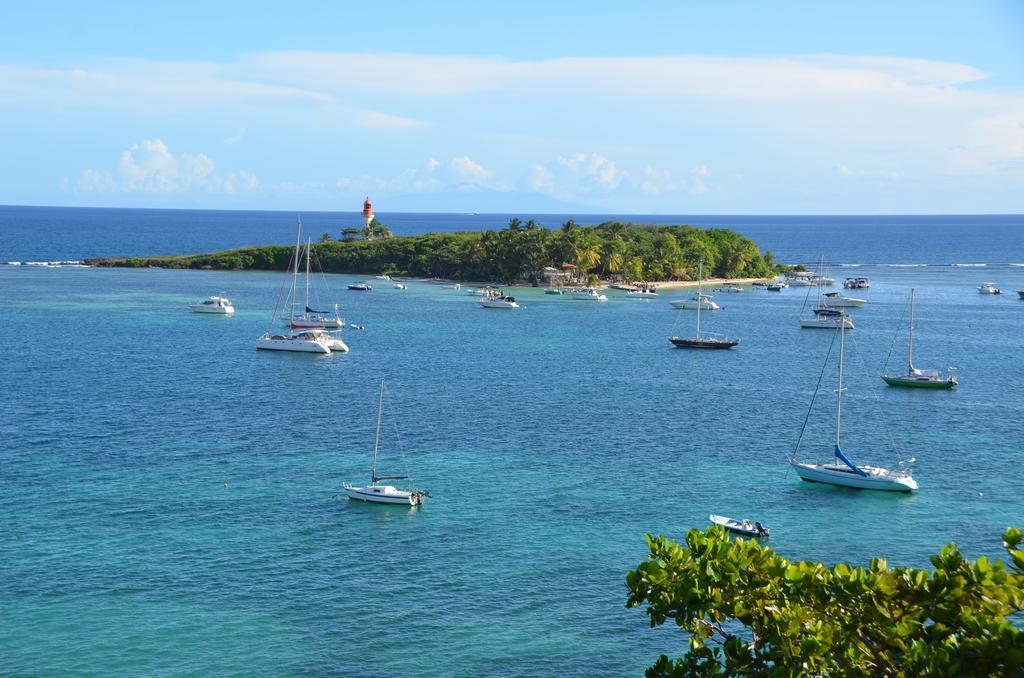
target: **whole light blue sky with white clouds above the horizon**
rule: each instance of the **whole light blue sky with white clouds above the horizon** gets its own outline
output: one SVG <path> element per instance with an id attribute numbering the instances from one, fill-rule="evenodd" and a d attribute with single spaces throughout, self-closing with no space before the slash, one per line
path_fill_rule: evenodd
<path id="1" fill-rule="evenodd" d="M 0 204 L 1024 212 L 1017 1 L 0 0 Z"/>

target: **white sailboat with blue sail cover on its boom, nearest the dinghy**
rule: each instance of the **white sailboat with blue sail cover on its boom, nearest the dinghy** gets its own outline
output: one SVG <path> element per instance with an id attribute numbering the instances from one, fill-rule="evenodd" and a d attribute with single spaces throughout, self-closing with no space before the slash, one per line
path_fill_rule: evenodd
<path id="1" fill-rule="evenodd" d="M 843 354 L 846 349 L 846 328 L 839 327 L 839 384 L 836 388 L 836 446 L 833 450 L 835 459 L 830 464 L 809 464 L 799 462 L 790 457 L 790 465 L 797 475 L 808 482 L 823 482 L 825 484 L 858 490 L 881 490 L 885 492 L 913 492 L 918 481 L 910 475 L 910 464 L 913 459 L 902 462 L 898 468 L 889 469 L 880 466 L 858 466 L 850 461 L 840 446 L 841 422 L 843 418 Z M 827 357 L 825 358 L 827 359 Z M 816 392 L 816 389 L 815 389 Z M 813 407 L 814 399 L 811 398 Z M 808 412 L 808 414 L 810 414 Z M 806 425 L 806 420 L 805 420 Z M 800 439 L 803 439 L 803 430 Z M 797 441 L 800 449 L 800 440 Z"/>

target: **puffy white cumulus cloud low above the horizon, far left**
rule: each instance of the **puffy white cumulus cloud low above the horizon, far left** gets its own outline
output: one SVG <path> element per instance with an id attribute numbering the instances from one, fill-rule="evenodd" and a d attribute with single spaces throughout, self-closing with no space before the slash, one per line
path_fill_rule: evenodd
<path id="1" fill-rule="evenodd" d="M 256 190 L 251 172 L 220 174 L 206 154 L 175 156 L 163 139 L 145 139 L 121 153 L 115 172 L 87 169 L 79 178 L 80 193 L 129 192 L 173 194 L 202 190 L 233 194 Z"/>

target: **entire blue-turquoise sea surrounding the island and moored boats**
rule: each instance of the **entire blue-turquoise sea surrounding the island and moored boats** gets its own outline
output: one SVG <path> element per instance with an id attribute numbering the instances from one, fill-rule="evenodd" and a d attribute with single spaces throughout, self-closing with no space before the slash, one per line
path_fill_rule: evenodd
<path id="1" fill-rule="evenodd" d="M 508 216 L 381 219 L 400 234 Z M 313 236 L 356 220 L 302 218 Z M 682 292 L 516 290 L 507 312 L 328 276 L 322 298 L 366 329 L 346 330 L 351 352 L 312 356 L 254 349 L 284 273 L 0 263 L 0 673 L 637 675 L 686 647 L 625 607 L 646 532 L 721 513 L 763 521 L 794 559 L 928 566 L 950 541 L 1000 555 L 1024 524 L 1024 266 L 1010 265 L 1024 217 L 627 218 L 725 225 L 780 260 L 870 278 L 847 337 L 844 447 L 915 457 L 920 492 L 790 469 L 833 339 L 799 328 L 799 288 L 719 295 L 703 329 L 742 343 L 702 353 L 667 341 L 693 331 L 667 303 Z M 288 243 L 294 220 L 0 208 L 0 262 Z M 1005 294 L 978 294 L 983 281 Z M 956 390 L 879 379 L 891 348 L 890 369 L 905 359 L 910 288 L 915 363 L 956 367 Z M 220 292 L 234 316 L 188 312 Z M 830 451 L 834 359 L 807 458 Z M 429 489 L 419 510 L 341 492 L 368 479 L 382 377 L 381 463 Z"/>

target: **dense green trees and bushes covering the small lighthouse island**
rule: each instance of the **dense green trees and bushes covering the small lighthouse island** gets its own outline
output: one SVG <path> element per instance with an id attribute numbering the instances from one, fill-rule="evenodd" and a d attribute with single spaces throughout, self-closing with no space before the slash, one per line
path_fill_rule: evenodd
<path id="1" fill-rule="evenodd" d="M 606 221 L 582 226 L 566 221 L 557 230 L 532 219 L 512 219 L 502 230 L 436 232 L 393 237 L 376 219 L 362 229 L 345 228 L 340 241 L 326 234 L 313 256 L 327 272 L 387 272 L 416 278 L 541 283 L 545 270 L 566 271 L 582 282 L 591 277 L 627 281 L 695 280 L 706 277 L 765 278 L 777 267 L 771 252 L 732 230 L 689 225 L 658 226 Z M 253 247 L 214 254 L 95 259 L 109 266 L 264 269 L 288 266 L 292 248 Z M 549 276 L 550 278 L 550 276 Z"/>

